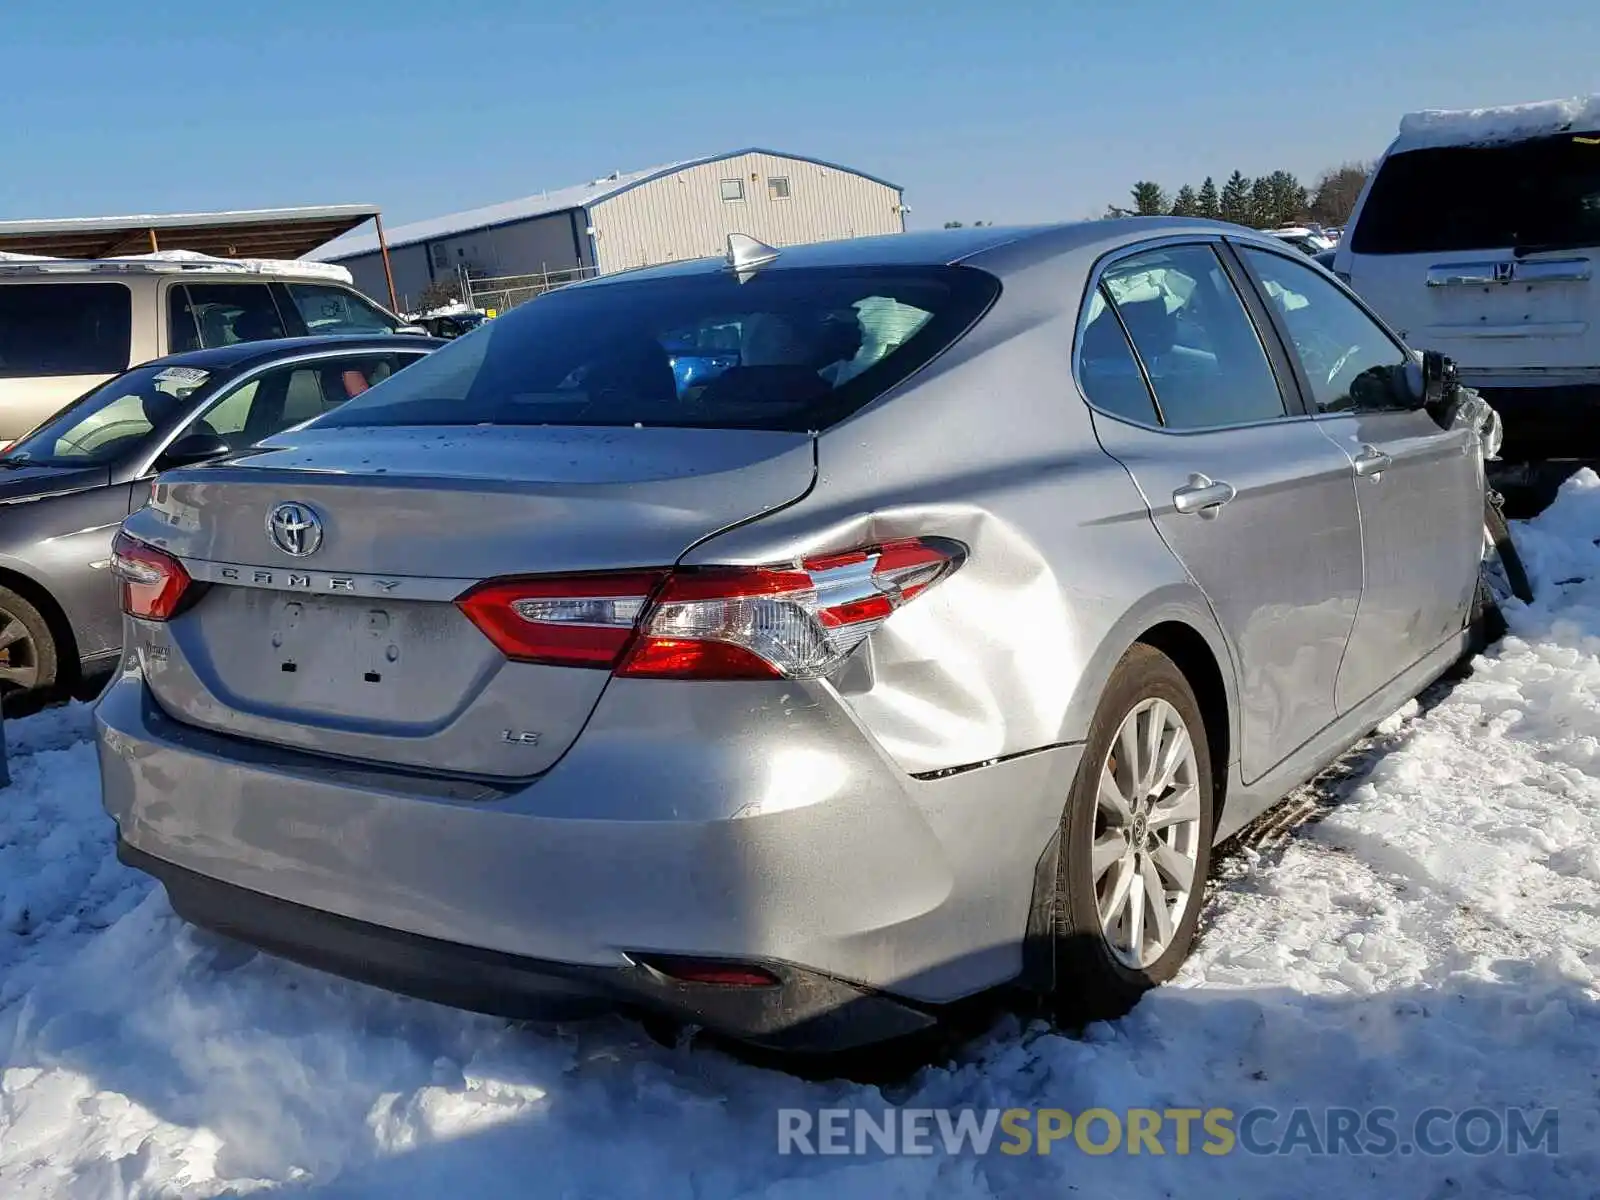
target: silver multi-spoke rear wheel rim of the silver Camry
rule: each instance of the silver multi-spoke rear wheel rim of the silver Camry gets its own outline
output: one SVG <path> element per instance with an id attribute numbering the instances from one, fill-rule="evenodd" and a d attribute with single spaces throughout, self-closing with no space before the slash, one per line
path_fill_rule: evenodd
<path id="1" fill-rule="evenodd" d="M 1138 704 L 1101 765 L 1090 874 L 1101 930 L 1128 966 L 1171 946 L 1195 891 L 1200 774 L 1189 726 L 1163 699 Z"/>

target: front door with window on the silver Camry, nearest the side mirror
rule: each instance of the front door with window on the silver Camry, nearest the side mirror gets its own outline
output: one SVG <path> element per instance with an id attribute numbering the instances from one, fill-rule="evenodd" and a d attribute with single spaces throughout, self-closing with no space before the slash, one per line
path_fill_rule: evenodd
<path id="1" fill-rule="evenodd" d="M 1317 426 L 1352 461 L 1366 587 L 1339 670 L 1346 712 L 1461 632 L 1483 555 L 1477 440 L 1413 408 L 1411 358 L 1322 272 L 1240 246 L 1283 341 L 1293 349 Z"/>

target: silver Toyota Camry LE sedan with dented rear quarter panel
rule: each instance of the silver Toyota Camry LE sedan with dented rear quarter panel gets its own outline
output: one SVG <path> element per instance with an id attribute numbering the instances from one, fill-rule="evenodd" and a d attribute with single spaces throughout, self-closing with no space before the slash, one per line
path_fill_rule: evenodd
<path id="1" fill-rule="evenodd" d="M 128 518 L 120 854 L 512 1016 L 1112 1014 L 1211 846 L 1469 645 L 1446 426 L 1331 275 L 1203 221 L 571 286 Z"/>

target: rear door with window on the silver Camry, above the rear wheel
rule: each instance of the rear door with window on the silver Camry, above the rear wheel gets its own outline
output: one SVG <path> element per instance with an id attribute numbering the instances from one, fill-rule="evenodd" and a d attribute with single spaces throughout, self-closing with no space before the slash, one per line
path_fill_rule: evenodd
<path id="1" fill-rule="evenodd" d="M 1350 462 L 1301 411 L 1226 254 L 1186 242 L 1102 262 L 1078 381 L 1234 654 L 1253 782 L 1336 715 L 1362 538 Z"/>

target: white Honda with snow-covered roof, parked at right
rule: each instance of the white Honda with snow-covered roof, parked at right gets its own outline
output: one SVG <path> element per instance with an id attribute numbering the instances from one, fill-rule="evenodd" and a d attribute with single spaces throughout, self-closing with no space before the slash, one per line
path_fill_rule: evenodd
<path id="1" fill-rule="evenodd" d="M 1333 269 L 1456 360 L 1502 459 L 1600 458 L 1600 96 L 1402 118 Z"/>

